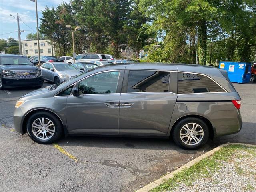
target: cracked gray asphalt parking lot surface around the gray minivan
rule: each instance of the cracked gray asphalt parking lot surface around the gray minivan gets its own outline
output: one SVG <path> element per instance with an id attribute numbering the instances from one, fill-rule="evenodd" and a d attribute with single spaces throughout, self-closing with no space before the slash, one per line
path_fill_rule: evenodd
<path id="1" fill-rule="evenodd" d="M 50 84 L 44 83 L 44 86 Z M 172 140 L 146 138 L 63 138 L 40 145 L 14 132 L 12 112 L 18 98 L 33 88 L 0 91 L 1 191 L 134 191 L 192 158 L 227 142 L 256 144 L 256 84 L 234 84 L 242 97 L 243 126 L 196 151 L 178 148 Z M 77 162 L 74 159 L 77 158 Z"/>

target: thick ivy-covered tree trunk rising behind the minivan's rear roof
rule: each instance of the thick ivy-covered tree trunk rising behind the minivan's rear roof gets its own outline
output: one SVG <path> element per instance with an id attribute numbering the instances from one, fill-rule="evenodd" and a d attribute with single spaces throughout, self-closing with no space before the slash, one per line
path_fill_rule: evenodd
<path id="1" fill-rule="evenodd" d="M 200 65 L 206 65 L 206 53 L 207 53 L 207 27 L 206 20 L 200 20 L 198 22 L 198 58 Z"/>

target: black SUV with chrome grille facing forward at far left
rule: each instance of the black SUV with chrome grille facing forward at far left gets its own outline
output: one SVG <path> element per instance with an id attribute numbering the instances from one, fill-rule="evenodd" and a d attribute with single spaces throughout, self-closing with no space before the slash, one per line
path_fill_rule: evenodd
<path id="1" fill-rule="evenodd" d="M 44 82 L 40 68 L 21 55 L 0 55 L 0 89 L 17 86 L 36 86 Z"/>

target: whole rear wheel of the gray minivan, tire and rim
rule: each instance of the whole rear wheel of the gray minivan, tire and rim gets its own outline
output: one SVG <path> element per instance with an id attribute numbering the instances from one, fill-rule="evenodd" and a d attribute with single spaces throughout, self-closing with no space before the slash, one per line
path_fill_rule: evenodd
<path id="1" fill-rule="evenodd" d="M 189 117 L 174 127 L 173 140 L 180 147 L 194 150 L 202 147 L 209 138 L 207 124 L 199 118 Z"/>

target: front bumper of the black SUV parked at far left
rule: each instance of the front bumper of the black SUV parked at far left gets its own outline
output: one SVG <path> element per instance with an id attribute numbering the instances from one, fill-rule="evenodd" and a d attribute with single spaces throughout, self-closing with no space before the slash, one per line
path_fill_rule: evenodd
<path id="1" fill-rule="evenodd" d="M 15 79 L 10 77 L 2 78 L 2 83 L 5 87 L 18 87 L 18 86 L 40 86 L 44 82 L 42 76 L 31 79 Z"/>

